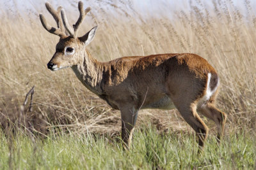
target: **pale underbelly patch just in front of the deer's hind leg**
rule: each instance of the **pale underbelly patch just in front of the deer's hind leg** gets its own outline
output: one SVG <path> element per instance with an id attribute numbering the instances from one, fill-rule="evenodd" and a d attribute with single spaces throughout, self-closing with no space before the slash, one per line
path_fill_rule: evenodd
<path id="1" fill-rule="evenodd" d="M 171 110 L 171 109 L 174 109 L 175 106 L 172 100 L 170 99 L 170 97 L 164 96 L 164 97 L 161 97 L 161 99 L 148 104 L 147 106 L 145 106 L 145 108 Z"/>

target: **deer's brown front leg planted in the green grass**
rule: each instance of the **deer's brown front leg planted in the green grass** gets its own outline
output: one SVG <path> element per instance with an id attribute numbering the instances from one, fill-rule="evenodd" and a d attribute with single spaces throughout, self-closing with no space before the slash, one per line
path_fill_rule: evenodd
<path id="1" fill-rule="evenodd" d="M 124 107 L 120 109 L 122 120 L 122 140 L 125 150 L 131 145 L 132 132 L 138 117 L 138 110 L 134 107 Z"/>

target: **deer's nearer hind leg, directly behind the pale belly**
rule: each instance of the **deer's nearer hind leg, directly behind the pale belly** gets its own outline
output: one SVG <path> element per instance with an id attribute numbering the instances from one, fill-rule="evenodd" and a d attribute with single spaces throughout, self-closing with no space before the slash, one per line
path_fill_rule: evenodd
<path id="1" fill-rule="evenodd" d="M 180 112 L 180 115 L 186 120 L 186 122 L 195 130 L 196 136 L 198 137 L 198 145 L 200 149 L 204 148 L 204 143 L 208 134 L 208 127 L 204 124 L 202 119 L 196 113 L 196 104 L 188 104 L 188 106 L 176 105 Z"/>

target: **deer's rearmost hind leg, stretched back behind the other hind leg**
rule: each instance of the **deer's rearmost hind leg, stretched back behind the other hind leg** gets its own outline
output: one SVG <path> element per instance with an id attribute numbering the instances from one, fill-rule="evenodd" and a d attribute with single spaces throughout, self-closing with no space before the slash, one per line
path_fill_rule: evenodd
<path id="1" fill-rule="evenodd" d="M 202 113 L 207 118 L 213 120 L 218 129 L 218 141 L 220 141 L 221 137 L 224 133 L 224 127 L 227 120 L 227 115 L 223 111 L 218 110 L 212 103 L 203 104 L 198 108 L 198 111 Z"/>

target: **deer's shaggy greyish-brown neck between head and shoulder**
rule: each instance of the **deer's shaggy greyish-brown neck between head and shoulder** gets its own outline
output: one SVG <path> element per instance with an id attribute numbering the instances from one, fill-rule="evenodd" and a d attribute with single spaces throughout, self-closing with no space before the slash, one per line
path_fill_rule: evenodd
<path id="1" fill-rule="evenodd" d="M 103 90 L 100 87 L 102 80 L 102 64 L 94 59 L 89 52 L 85 50 L 81 62 L 72 66 L 72 69 L 77 78 L 87 89 L 91 90 L 94 94 L 102 94 Z"/>

